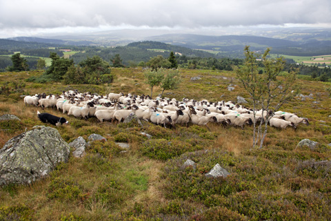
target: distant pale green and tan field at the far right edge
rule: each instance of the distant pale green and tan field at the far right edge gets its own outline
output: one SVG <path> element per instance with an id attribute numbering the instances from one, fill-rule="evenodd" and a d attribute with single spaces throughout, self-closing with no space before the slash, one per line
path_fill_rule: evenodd
<path id="1" fill-rule="evenodd" d="M 303 57 L 303 56 L 291 56 L 291 55 L 270 55 L 272 58 L 276 57 L 285 57 L 288 59 L 293 59 L 298 64 L 306 64 L 306 65 L 318 65 L 325 63 L 330 66 L 331 64 L 331 55 L 321 55 L 321 56 L 311 56 L 311 57 Z"/>

